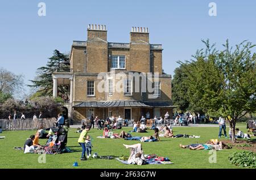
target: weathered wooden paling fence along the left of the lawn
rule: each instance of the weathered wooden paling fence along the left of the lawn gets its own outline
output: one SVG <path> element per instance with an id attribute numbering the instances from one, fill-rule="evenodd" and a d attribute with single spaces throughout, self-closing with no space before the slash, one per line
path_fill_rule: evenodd
<path id="1" fill-rule="evenodd" d="M 39 130 L 41 126 L 49 128 L 55 126 L 56 118 L 42 119 L 0 119 L 0 127 L 3 131 L 28 131 Z"/>

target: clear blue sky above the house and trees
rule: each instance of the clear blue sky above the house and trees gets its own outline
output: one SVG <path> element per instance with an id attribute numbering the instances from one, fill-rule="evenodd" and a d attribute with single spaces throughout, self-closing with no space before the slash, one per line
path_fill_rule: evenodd
<path id="1" fill-rule="evenodd" d="M 38 3 L 46 16 L 38 16 Z M 217 16 L 209 16 L 215 2 Z M 131 27 L 148 27 L 151 44 L 163 44 L 163 68 L 174 75 L 177 60 L 190 59 L 209 38 L 217 47 L 229 38 L 256 43 L 256 1 L 1 1 L 0 67 L 34 79 L 54 49 L 68 53 L 73 40 L 86 40 L 88 24 L 106 24 L 109 42 L 129 42 Z M 28 91 L 28 88 L 26 88 Z"/>

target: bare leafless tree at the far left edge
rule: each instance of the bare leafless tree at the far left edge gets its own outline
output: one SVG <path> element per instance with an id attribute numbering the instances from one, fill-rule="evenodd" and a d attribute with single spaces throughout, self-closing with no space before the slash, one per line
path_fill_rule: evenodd
<path id="1" fill-rule="evenodd" d="M 0 93 L 13 95 L 23 88 L 23 75 L 0 68 Z"/>

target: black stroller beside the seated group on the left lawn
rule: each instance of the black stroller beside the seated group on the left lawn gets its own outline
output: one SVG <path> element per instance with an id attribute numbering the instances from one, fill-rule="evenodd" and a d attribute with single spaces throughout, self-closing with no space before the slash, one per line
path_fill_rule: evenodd
<path id="1" fill-rule="evenodd" d="M 60 127 L 57 130 L 57 138 L 55 140 L 55 144 L 52 147 L 52 153 L 61 153 L 63 149 L 65 149 L 68 142 L 68 130 L 63 127 Z"/>

